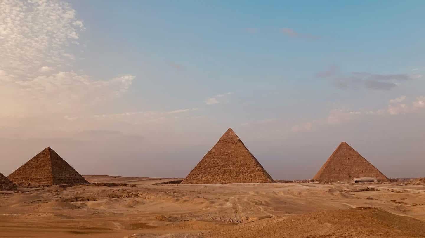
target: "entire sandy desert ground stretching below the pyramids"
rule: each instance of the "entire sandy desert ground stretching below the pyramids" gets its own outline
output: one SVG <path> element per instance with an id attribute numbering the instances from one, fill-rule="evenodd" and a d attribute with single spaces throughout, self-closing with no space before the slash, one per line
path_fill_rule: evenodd
<path id="1" fill-rule="evenodd" d="M 425 186 L 85 177 L 130 185 L 2 191 L 0 237 L 425 237 Z"/>

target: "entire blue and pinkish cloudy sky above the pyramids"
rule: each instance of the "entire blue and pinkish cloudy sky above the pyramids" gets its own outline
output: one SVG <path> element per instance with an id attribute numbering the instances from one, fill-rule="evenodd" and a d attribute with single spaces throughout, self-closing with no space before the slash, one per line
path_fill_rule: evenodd
<path id="1" fill-rule="evenodd" d="M 0 0 L 0 172 L 184 177 L 231 127 L 274 179 L 346 141 L 425 176 L 423 1 Z"/>

